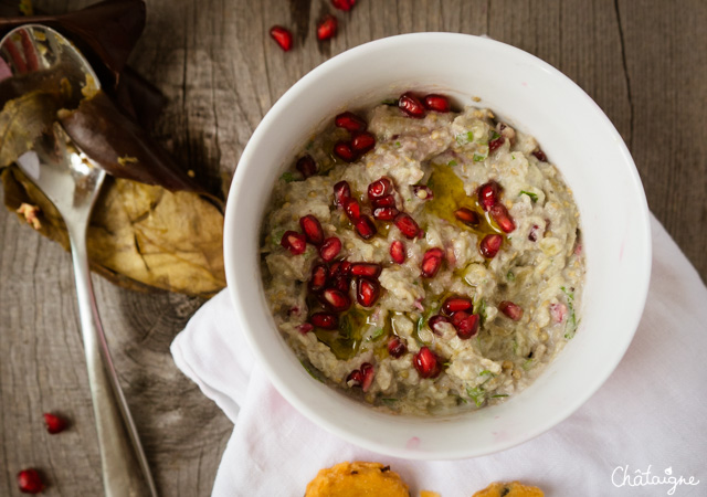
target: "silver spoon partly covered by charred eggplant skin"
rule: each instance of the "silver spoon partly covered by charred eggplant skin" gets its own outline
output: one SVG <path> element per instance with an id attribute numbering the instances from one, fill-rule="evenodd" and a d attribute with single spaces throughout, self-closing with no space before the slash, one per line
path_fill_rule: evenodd
<path id="1" fill-rule="evenodd" d="M 81 89 L 98 89 L 98 78 L 83 55 L 56 31 L 27 24 L 0 41 L 0 56 L 12 76 L 61 71 L 75 103 Z M 1 61 L 0 61 L 1 62 Z M 59 123 L 34 140 L 23 154 L 20 169 L 56 207 L 68 232 L 76 279 L 78 313 L 88 368 L 88 383 L 101 445 L 106 496 L 157 496 L 145 452 L 110 360 L 91 284 L 86 228 L 105 171 L 74 146 Z"/>

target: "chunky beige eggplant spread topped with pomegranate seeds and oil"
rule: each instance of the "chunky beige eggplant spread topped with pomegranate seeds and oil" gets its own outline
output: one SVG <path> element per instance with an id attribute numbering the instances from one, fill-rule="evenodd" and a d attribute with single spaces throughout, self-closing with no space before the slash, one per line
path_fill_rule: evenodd
<path id="1" fill-rule="evenodd" d="M 405 93 L 345 112 L 277 181 L 262 275 L 315 378 L 378 409 L 437 415 L 527 387 L 578 327 L 570 189 L 490 110 Z"/>

